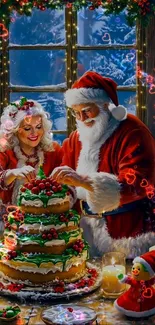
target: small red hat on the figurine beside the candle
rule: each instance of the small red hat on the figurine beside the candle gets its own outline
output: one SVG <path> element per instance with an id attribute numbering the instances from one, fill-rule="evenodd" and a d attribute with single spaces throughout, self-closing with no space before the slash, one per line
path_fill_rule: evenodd
<path id="1" fill-rule="evenodd" d="M 133 263 L 141 263 L 147 268 L 150 275 L 154 276 L 155 275 L 155 250 L 136 257 L 133 260 Z"/>

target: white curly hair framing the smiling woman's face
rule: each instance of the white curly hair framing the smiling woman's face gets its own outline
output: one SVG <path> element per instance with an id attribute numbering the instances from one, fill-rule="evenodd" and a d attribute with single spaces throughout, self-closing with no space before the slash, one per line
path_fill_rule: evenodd
<path id="1" fill-rule="evenodd" d="M 44 129 L 43 137 L 40 141 L 40 146 L 44 151 L 53 151 L 51 128 L 52 122 L 49 120 L 49 113 L 44 111 L 44 108 L 40 103 L 35 100 L 27 100 L 33 102 L 34 105 L 29 107 L 28 110 L 18 110 L 13 104 L 4 108 L 0 119 L 0 151 L 5 151 L 13 148 L 19 144 L 19 140 L 16 133 L 20 127 L 20 123 L 26 118 L 26 116 L 39 115 L 42 119 L 42 125 Z M 19 105 L 19 101 L 15 104 Z"/>

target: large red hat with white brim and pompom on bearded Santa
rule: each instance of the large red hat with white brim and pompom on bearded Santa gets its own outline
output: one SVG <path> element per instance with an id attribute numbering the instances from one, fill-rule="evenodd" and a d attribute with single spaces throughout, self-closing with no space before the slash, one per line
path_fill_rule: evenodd
<path id="1" fill-rule="evenodd" d="M 99 73 L 88 71 L 74 82 L 71 89 L 65 94 L 66 104 L 72 105 L 96 102 L 110 102 L 114 105 L 109 106 L 113 117 L 122 121 L 126 119 L 127 110 L 118 104 L 117 84 L 110 78 L 102 77 Z"/>

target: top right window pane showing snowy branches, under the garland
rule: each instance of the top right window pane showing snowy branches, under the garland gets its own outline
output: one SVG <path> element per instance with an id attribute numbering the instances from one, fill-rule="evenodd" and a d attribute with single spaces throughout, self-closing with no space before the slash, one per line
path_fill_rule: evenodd
<path id="1" fill-rule="evenodd" d="M 125 11 L 119 15 L 104 15 L 104 9 L 82 9 L 78 12 L 78 44 L 135 44 L 136 30 L 129 27 Z"/>

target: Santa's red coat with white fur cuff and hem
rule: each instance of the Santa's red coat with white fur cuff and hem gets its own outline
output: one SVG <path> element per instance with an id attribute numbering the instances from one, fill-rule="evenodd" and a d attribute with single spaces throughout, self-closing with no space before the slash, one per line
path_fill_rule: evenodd
<path id="1" fill-rule="evenodd" d="M 94 213 L 112 211 L 145 197 L 151 203 L 155 198 L 155 140 L 150 131 L 129 114 L 108 132 L 102 143 L 89 150 L 83 147 L 77 130 L 64 141 L 62 164 L 93 181 L 94 192 L 77 188 L 78 197 L 87 201 Z M 84 235 L 94 246 L 93 255 L 120 249 L 134 257 L 155 244 L 155 217 L 147 216 L 142 204 L 130 212 L 109 213 L 102 220 L 82 220 Z"/>

